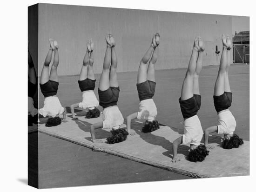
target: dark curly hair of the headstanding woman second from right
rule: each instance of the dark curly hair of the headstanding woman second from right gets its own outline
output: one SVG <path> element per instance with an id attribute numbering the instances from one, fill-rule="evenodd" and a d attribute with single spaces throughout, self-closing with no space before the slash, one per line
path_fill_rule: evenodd
<path id="1" fill-rule="evenodd" d="M 203 161 L 207 155 L 209 155 L 209 151 L 201 144 L 197 148 L 190 150 L 187 159 L 192 162 Z"/>

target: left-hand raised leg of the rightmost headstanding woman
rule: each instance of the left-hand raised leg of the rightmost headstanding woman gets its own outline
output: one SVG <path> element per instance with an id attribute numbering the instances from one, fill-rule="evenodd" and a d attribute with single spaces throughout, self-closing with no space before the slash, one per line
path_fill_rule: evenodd
<path id="1" fill-rule="evenodd" d="M 227 68 L 227 40 L 224 35 L 222 35 L 222 55 L 219 66 L 219 71 L 217 75 L 217 79 L 214 87 L 214 95 L 219 96 L 222 95 L 225 91 L 225 76 L 226 76 L 226 68 Z"/>

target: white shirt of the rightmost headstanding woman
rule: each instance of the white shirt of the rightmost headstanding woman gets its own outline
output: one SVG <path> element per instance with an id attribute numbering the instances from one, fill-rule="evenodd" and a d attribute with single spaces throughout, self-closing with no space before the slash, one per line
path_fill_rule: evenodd
<path id="1" fill-rule="evenodd" d="M 233 134 L 236 129 L 236 119 L 232 113 L 227 110 L 218 114 L 218 134 Z"/>

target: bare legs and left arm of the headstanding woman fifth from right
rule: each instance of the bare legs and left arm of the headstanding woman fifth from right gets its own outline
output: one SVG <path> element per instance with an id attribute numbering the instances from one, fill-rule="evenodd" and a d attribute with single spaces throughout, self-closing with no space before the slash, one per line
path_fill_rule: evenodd
<path id="1" fill-rule="evenodd" d="M 95 79 L 94 70 L 93 70 L 93 64 L 94 64 L 93 51 L 94 51 L 94 42 L 93 40 L 88 40 L 87 50 L 83 59 L 83 65 L 82 65 L 80 76 L 79 76 L 80 81 L 87 78 L 92 80 Z M 77 108 L 77 107 L 79 107 L 79 103 L 76 103 L 70 106 L 73 120 L 78 119 L 77 117 L 75 117 L 75 114 L 74 114 L 74 108 Z"/>

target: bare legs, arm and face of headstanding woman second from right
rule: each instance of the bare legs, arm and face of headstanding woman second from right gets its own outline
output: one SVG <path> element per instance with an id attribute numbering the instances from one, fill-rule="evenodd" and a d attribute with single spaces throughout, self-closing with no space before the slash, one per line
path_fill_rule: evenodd
<path id="1" fill-rule="evenodd" d="M 200 37 L 196 37 L 192 54 L 189 60 L 188 70 L 182 84 L 181 99 L 186 100 L 193 97 L 194 94 L 200 95 L 199 91 L 199 74 L 202 70 L 202 55 L 204 51 L 204 44 Z M 182 136 L 175 139 L 173 142 L 173 159 L 172 163 L 176 163 L 180 159 L 177 157 L 178 146 L 182 144 Z M 195 149 L 197 146 L 190 145 L 190 150 Z"/>

